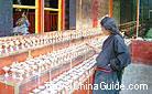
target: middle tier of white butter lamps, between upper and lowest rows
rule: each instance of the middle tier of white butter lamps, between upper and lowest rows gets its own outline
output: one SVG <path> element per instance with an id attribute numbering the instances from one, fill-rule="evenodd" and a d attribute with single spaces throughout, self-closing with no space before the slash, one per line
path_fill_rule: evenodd
<path id="1" fill-rule="evenodd" d="M 23 80 L 30 75 L 39 75 L 42 72 L 52 67 L 57 67 L 62 64 L 70 63 L 74 59 L 87 54 L 93 49 L 85 43 L 72 45 L 69 48 L 54 51 L 39 58 L 28 59 L 24 62 L 13 62 L 9 66 L 4 66 L 4 76 Z"/>

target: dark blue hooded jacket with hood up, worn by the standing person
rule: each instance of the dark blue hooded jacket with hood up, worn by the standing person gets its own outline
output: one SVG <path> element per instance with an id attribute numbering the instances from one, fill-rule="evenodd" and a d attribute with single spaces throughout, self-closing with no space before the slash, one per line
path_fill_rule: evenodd
<path id="1" fill-rule="evenodd" d="M 100 24 L 111 32 L 102 44 L 102 51 L 97 56 L 97 66 L 106 70 L 121 71 L 131 59 L 129 50 L 112 18 L 106 17 Z"/>

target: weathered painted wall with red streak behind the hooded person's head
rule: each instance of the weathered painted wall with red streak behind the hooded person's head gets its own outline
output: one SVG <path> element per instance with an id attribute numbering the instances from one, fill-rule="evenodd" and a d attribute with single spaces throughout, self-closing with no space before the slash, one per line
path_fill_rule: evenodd
<path id="1" fill-rule="evenodd" d="M 76 29 L 98 25 L 100 18 L 109 12 L 107 0 L 76 0 Z"/>

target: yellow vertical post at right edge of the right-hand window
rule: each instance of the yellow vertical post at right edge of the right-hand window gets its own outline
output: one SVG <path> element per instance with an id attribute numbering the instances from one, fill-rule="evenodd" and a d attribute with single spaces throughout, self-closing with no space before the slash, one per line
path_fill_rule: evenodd
<path id="1" fill-rule="evenodd" d="M 58 31 L 62 31 L 62 0 L 58 0 Z"/>

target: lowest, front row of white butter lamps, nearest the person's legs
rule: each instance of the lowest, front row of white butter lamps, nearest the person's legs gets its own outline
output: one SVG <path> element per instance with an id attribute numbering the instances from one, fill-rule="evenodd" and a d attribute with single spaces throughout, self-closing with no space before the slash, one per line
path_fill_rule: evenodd
<path id="1" fill-rule="evenodd" d="M 70 94 L 94 73 L 96 55 L 61 74 L 56 79 L 45 82 L 44 85 L 34 88 L 30 94 Z"/>

